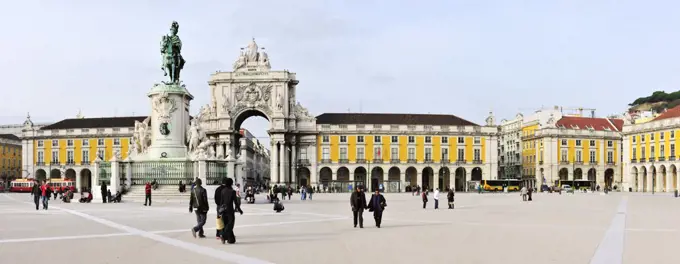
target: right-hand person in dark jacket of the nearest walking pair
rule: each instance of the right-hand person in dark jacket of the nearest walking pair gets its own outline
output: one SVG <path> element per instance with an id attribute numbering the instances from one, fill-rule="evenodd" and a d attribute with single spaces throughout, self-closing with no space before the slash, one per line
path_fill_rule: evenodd
<path id="1" fill-rule="evenodd" d="M 236 191 L 232 189 L 234 180 L 227 178 L 227 182 L 222 188 L 220 195 L 221 203 L 218 212 L 222 215 L 222 221 L 224 222 L 224 230 L 222 231 L 222 244 L 226 241 L 229 244 L 236 243 L 236 236 L 234 236 L 234 223 L 236 221 L 236 216 L 234 213 L 239 212 L 243 214 L 241 210 L 241 202 L 239 202 L 236 196 Z"/>

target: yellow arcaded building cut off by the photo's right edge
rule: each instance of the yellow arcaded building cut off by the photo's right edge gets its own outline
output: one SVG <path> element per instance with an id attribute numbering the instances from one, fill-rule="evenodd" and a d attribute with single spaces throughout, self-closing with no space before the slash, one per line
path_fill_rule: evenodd
<path id="1" fill-rule="evenodd" d="M 680 107 L 653 120 L 627 120 L 623 128 L 624 188 L 636 192 L 678 190 L 676 146 L 680 144 Z"/>

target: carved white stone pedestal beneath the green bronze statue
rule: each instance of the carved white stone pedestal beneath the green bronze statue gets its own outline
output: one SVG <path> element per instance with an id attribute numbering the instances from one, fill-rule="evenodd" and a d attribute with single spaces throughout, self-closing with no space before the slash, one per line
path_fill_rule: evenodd
<path id="1" fill-rule="evenodd" d="M 194 99 L 182 84 L 155 84 L 147 94 L 151 100 L 151 146 L 145 160 L 187 159 L 186 129 L 189 102 Z"/>

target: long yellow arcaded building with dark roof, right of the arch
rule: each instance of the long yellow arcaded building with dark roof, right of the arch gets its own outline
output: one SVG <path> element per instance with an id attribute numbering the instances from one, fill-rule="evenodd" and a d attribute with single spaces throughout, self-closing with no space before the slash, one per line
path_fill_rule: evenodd
<path id="1" fill-rule="evenodd" d="M 343 191 L 348 184 L 465 190 L 498 177 L 496 126 L 425 114 L 327 113 L 316 123 L 319 180 Z"/>

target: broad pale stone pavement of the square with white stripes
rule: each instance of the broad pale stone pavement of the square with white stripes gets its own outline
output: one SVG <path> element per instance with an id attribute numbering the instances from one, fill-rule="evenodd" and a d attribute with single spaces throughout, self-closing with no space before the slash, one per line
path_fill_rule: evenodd
<path id="1" fill-rule="evenodd" d="M 370 195 L 367 196 L 369 198 Z M 422 209 L 419 197 L 386 194 L 383 226 L 364 213 L 352 227 L 349 194 L 244 204 L 237 244 L 194 239 L 186 202 L 63 204 L 35 211 L 28 194 L 0 194 L 0 263 L 36 254 L 68 263 L 675 263 L 680 199 L 668 194 L 456 195 L 457 209 Z M 297 198 L 297 199 L 296 199 Z M 220 261 L 221 260 L 221 261 Z"/>

